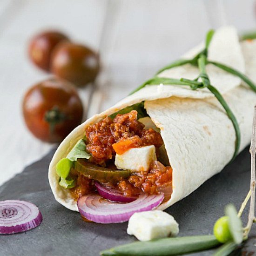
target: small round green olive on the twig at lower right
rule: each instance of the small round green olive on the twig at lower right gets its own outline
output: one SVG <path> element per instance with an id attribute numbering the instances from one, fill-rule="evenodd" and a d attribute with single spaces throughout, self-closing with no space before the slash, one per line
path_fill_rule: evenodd
<path id="1" fill-rule="evenodd" d="M 220 243 L 226 243 L 232 239 L 232 236 L 229 231 L 229 217 L 222 216 L 219 218 L 213 228 L 213 233 L 216 239 Z"/>

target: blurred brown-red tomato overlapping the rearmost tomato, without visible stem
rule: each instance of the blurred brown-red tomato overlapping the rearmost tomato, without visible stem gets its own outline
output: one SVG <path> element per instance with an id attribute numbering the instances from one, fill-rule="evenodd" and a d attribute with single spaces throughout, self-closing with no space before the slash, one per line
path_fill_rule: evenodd
<path id="1" fill-rule="evenodd" d="M 93 82 L 99 69 L 99 56 L 88 47 L 65 42 L 52 55 L 51 71 L 79 87 Z"/>

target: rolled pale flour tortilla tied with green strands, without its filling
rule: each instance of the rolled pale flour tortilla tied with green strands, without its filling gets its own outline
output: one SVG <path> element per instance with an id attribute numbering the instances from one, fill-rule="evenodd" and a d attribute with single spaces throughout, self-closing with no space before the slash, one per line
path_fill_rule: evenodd
<path id="1" fill-rule="evenodd" d="M 183 57 L 191 58 L 201 48 L 202 45 Z M 254 47 L 242 43 L 241 47 L 234 27 L 222 27 L 217 30 L 209 47 L 209 59 L 225 63 L 243 73 L 246 67 L 249 76 L 256 68 L 256 63 L 248 57 L 251 55 L 256 56 L 256 43 Z M 256 94 L 241 85 L 239 78 L 212 65 L 208 65 L 207 71 L 212 84 L 222 93 L 236 115 L 242 136 L 241 151 L 250 141 Z M 185 65 L 164 71 L 160 76 L 194 79 L 198 74 L 196 67 Z M 253 75 L 252 79 L 256 81 Z M 235 130 L 222 106 L 207 89 L 192 91 L 180 86 L 147 86 L 124 98 L 112 108 L 94 115 L 75 128 L 61 143 L 49 166 L 49 183 L 58 202 L 68 209 L 78 210 L 68 189 L 59 186 L 59 176 L 55 170 L 57 162 L 66 157 L 75 143 L 83 138 L 88 125 L 141 101 L 145 101 L 148 115 L 161 130 L 173 168 L 173 194 L 170 200 L 158 209 L 166 209 L 189 195 L 229 163 L 235 150 Z"/>

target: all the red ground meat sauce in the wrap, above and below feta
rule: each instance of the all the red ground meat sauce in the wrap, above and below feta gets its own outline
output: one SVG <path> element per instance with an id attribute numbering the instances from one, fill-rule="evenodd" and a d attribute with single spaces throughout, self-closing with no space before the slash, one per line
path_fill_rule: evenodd
<path id="1" fill-rule="evenodd" d="M 86 149 L 92 155 L 90 162 L 107 165 L 108 168 L 113 165 L 116 154 L 114 148 L 120 151 L 148 145 L 159 148 L 163 144 L 159 133 L 151 128 L 144 129 L 144 125 L 137 120 L 137 111 L 116 115 L 113 120 L 106 117 L 100 122 L 90 125 L 85 132 L 87 137 Z M 115 147 L 117 144 L 119 144 L 118 147 Z M 96 189 L 92 179 L 84 177 L 74 169 L 71 171 L 71 176 L 76 181 L 76 187 L 70 189 L 70 192 L 76 200 L 81 195 L 95 193 Z M 172 168 L 154 161 L 148 171 L 134 173 L 118 184 L 111 184 L 110 181 L 109 185 L 122 191 L 126 196 L 139 195 L 141 192 L 147 194 L 165 193 L 166 188 L 168 191 L 172 191 Z"/>

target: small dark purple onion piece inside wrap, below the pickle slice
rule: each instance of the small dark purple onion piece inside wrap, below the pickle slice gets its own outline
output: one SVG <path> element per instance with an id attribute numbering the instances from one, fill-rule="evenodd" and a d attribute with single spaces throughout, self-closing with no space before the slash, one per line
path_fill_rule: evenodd
<path id="1" fill-rule="evenodd" d="M 121 191 L 113 188 L 108 188 L 106 186 L 101 185 L 98 182 L 95 182 L 96 189 L 98 193 L 105 199 L 114 202 L 133 202 L 137 199 L 135 196 L 125 196 L 121 193 Z"/>

